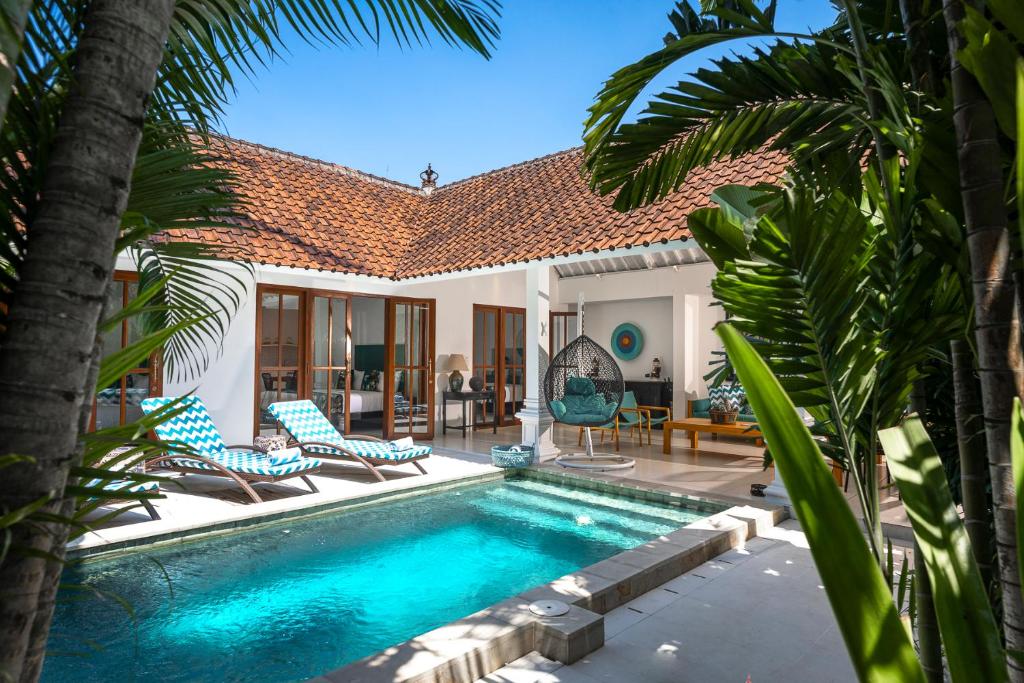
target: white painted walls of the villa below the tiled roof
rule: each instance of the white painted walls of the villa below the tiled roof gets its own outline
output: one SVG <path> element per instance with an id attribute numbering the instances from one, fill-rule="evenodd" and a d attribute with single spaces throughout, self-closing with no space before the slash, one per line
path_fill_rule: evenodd
<path id="1" fill-rule="evenodd" d="M 119 263 L 120 267 L 133 267 Z M 286 285 L 352 294 L 378 294 L 436 299 L 436 345 L 434 356 L 437 391 L 437 419 L 440 415 L 440 391 L 446 386 L 447 373 L 441 372 L 450 353 L 462 353 L 472 358 L 473 304 L 525 306 L 525 270 L 502 270 L 477 275 L 452 275 L 446 280 L 417 283 L 394 283 L 382 279 L 339 275 L 336 273 L 257 266 L 249 275 L 237 266 L 225 264 L 242 273 L 252 284 L 238 314 L 231 322 L 223 348 L 213 354 L 207 372 L 200 378 L 173 381 L 166 378 L 165 395 L 179 395 L 195 390 L 210 408 L 214 420 L 229 443 L 250 442 L 253 435 L 256 374 L 256 286 L 255 283 Z M 610 321 L 631 321 L 644 331 L 647 349 L 658 356 L 675 381 L 675 402 L 684 405 L 685 398 L 707 393 L 701 376 L 708 372 L 711 351 L 721 348 L 712 327 L 721 316 L 721 308 L 709 308 L 712 301 L 710 283 L 714 266 L 697 264 L 681 266 L 678 271 L 659 268 L 595 278 L 557 281 L 553 279 L 550 300 L 553 310 L 574 307 L 577 293 L 583 290 L 588 303 L 587 329 L 602 344 L 609 342 Z M 616 303 L 628 302 L 628 303 Z M 669 303 L 671 302 L 671 304 Z M 625 306 L 628 313 L 624 312 Z M 610 327 L 605 333 L 598 326 L 601 309 L 607 313 Z M 642 312 L 642 316 L 640 313 Z M 357 329 L 354 321 L 353 328 Z M 598 319 L 595 321 L 594 318 Z M 662 323 L 659 324 L 658 321 Z M 671 330 L 664 325 L 668 322 Z M 546 324 L 546 321 L 544 322 Z M 615 323 L 617 325 L 617 323 Z M 663 327 L 659 327 L 662 325 Z M 673 340 L 672 348 L 660 348 L 655 340 Z M 652 357 L 652 356 L 650 356 Z M 642 377 L 649 370 L 649 357 L 642 355 L 634 373 Z M 459 419 L 459 405 L 449 407 L 449 419 Z M 439 430 L 440 425 L 436 425 Z"/>

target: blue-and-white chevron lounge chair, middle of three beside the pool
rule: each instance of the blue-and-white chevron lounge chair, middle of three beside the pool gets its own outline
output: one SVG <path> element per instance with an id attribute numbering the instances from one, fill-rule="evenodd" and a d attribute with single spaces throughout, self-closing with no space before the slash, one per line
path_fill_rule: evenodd
<path id="1" fill-rule="evenodd" d="M 169 396 L 146 398 L 141 403 L 142 411 L 150 414 L 175 400 L 178 399 Z M 262 503 L 263 499 L 249 482 L 274 482 L 299 477 L 312 493 L 318 493 L 306 475 L 318 470 L 321 461 L 301 455 L 274 460 L 274 456 L 253 445 L 226 445 L 202 400 L 188 396 L 181 403 L 186 407 L 185 410 L 158 425 L 155 431 L 163 440 L 183 443 L 196 455 L 170 453 L 148 461 L 147 466 L 160 464 L 184 474 L 227 477 L 242 486 L 254 503 Z"/>

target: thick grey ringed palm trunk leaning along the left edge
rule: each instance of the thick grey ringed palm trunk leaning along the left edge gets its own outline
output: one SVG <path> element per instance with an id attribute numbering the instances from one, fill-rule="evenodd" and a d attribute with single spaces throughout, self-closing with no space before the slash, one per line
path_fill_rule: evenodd
<path id="1" fill-rule="evenodd" d="M 0 453 L 34 459 L 5 468 L 0 509 L 49 499 L 46 512 L 65 510 L 61 493 L 80 459 L 79 421 L 90 395 L 115 240 L 173 4 L 93 0 L 85 14 L 74 82 L 0 340 Z M 41 660 L 31 642 L 39 606 L 52 605 L 53 586 L 44 582 L 52 584 L 58 571 L 24 551 L 60 553 L 67 530 L 53 523 L 11 530 L 12 554 L 0 565 L 0 671 L 31 681 L 39 661 L 27 658 L 30 646 Z"/>

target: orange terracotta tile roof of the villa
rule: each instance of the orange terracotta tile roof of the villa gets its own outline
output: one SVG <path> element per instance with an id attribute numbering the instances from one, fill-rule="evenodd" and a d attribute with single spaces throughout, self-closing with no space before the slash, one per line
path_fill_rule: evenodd
<path id="1" fill-rule="evenodd" d="M 252 229 L 195 231 L 225 256 L 258 263 L 403 279 L 690 237 L 686 216 L 727 183 L 776 180 L 785 159 L 749 155 L 695 172 L 686 187 L 630 213 L 611 208 L 580 174 L 580 148 L 442 185 L 418 187 L 217 138 L 239 177 L 238 222 Z M 193 231 L 189 231 L 193 232 Z"/>

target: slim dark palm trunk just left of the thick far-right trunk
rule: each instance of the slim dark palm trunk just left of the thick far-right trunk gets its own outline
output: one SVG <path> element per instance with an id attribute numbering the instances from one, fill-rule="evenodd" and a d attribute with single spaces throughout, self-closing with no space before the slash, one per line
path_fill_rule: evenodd
<path id="1" fill-rule="evenodd" d="M 953 393 L 956 396 L 956 444 L 961 460 L 964 526 L 985 586 L 992 580 L 992 542 L 988 525 L 988 461 L 981 391 L 974 373 L 974 354 L 967 342 L 951 343 Z"/>

